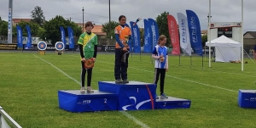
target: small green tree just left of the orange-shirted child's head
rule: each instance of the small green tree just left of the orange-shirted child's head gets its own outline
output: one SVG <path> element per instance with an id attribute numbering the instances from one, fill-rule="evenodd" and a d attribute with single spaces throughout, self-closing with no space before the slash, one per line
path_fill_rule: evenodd
<path id="1" fill-rule="evenodd" d="M 110 25 L 111 25 L 111 28 L 110 28 Z M 109 22 L 107 22 L 102 25 L 102 31 L 107 33 L 108 38 L 110 38 L 111 36 L 113 36 L 113 38 L 114 38 L 114 28 L 118 25 L 119 25 L 119 22 L 116 22 L 116 21 L 110 21 L 110 24 L 109 24 Z M 109 30 L 109 28 L 110 28 L 110 30 Z"/>

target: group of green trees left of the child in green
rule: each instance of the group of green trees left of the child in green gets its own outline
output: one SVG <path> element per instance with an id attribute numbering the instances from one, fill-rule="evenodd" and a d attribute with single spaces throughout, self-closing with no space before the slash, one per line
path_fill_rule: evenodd
<path id="1" fill-rule="evenodd" d="M 32 20 L 30 22 L 20 21 L 19 25 L 22 28 L 22 36 L 27 36 L 26 25 L 31 28 L 32 36 L 40 37 L 44 41 L 51 41 L 53 44 L 60 41 L 61 32 L 60 26 L 65 29 L 65 34 L 67 34 L 67 26 L 73 28 L 73 35 L 80 36 L 82 33 L 82 28 L 76 23 L 64 19 L 61 15 L 56 15 L 55 18 L 46 21 L 44 18 L 44 12 L 42 8 L 35 7 L 31 12 Z M 13 25 L 13 36 L 17 36 L 16 26 Z M 0 35 L 8 36 L 8 22 L 4 21 L 0 17 Z"/>

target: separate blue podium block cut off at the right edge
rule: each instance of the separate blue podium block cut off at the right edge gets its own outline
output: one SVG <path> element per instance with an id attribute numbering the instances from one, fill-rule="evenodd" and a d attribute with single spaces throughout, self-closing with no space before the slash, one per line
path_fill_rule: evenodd
<path id="1" fill-rule="evenodd" d="M 256 109 L 255 90 L 239 90 L 238 104 L 241 108 Z"/>

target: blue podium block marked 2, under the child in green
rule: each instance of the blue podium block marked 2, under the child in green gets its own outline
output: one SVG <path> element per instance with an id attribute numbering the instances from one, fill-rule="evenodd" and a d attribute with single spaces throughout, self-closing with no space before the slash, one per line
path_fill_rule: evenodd
<path id="1" fill-rule="evenodd" d="M 59 107 L 74 113 L 118 110 L 118 96 L 109 92 L 68 90 L 58 91 L 58 97 Z"/>

